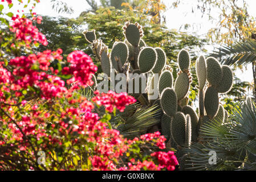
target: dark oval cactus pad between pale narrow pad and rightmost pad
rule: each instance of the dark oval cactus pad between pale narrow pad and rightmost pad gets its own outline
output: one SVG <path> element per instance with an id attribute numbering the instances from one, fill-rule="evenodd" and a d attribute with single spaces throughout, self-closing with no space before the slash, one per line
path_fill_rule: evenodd
<path id="1" fill-rule="evenodd" d="M 220 63 L 214 57 L 206 59 L 206 75 L 210 85 L 218 86 L 222 79 L 222 69 Z"/>

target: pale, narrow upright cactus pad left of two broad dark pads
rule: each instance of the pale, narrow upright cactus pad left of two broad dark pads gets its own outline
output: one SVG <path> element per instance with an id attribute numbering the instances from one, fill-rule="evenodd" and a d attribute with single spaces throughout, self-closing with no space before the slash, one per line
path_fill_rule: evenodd
<path id="1" fill-rule="evenodd" d="M 199 82 L 199 89 L 203 89 L 206 82 L 206 63 L 204 56 L 198 57 L 196 61 L 196 72 Z"/>

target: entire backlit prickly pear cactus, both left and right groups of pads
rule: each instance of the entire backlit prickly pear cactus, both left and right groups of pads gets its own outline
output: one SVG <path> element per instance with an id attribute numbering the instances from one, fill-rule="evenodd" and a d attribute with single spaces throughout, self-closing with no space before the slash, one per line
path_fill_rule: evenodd
<path id="1" fill-rule="evenodd" d="M 139 23 L 125 23 L 123 27 L 124 42 L 113 44 L 112 51 L 101 40 L 96 39 L 95 31 L 85 31 L 86 40 L 92 44 L 96 59 L 100 60 L 104 73 L 109 70 L 116 73 L 152 73 L 147 77 L 147 93 L 136 95 L 142 105 L 158 105 L 160 107 L 160 131 L 165 135 L 172 147 L 182 149 L 192 142 L 198 142 L 200 127 L 215 119 L 224 122 L 227 111 L 220 104 L 219 93 L 227 93 L 231 89 L 233 73 L 226 65 L 221 66 L 214 57 L 198 57 L 196 74 L 198 78 L 199 113 L 188 105 L 189 90 L 192 82 L 190 73 L 191 60 L 189 52 L 182 49 L 178 53 L 177 63 L 180 69 L 174 80 L 172 68 L 166 65 L 165 52 L 157 47 L 147 47 L 143 38 L 143 30 Z M 157 80 L 156 74 L 159 74 Z M 135 79 L 135 78 L 133 78 Z M 152 98 L 152 89 L 159 91 L 158 98 Z M 141 84 L 141 83 L 140 83 Z M 182 153 L 182 152 L 181 152 Z"/>

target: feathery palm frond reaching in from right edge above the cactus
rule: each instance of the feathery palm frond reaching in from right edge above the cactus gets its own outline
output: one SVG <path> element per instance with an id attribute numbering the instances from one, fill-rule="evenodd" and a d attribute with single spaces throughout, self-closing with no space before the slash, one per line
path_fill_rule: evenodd
<path id="1" fill-rule="evenodd" d="M 222 46 L 210 56 L 220 57 L 220 62 L 226 65 L 241 65 L 256 60 L 256 40 L 237 42 L 231 46 Z"/>

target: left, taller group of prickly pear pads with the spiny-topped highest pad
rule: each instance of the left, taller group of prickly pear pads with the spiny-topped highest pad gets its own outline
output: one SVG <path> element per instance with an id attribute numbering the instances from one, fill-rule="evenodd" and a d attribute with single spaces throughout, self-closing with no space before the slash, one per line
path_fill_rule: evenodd
<path id="1" fill-rule="evenodd" d="M 92 51 L 96 60 L 100 61 L 102 71 L 110 77 L 111 69 L 116 73 L 161 73 L 166 64 L 165 52 L 160 48 L 148 47 L 143 38 L 143 30 L 139 23 L 126 22 L 123 27 L 124 42 L 115 42 L 109 53 L 108 47 L 100 40 L 96 39 L 95 30 L 83 32 L 86 40 L 91 43 Z M 135 85 L 136 77 L 127 77 L 127 82 L 132 81 Z M 147 89 L 140 89 L 139 93 L 133 94 L 142 104 L 153 103 L 150 98 L 149 86 L 153 86 L 153 77 L 147 78 Z M 157 80 L 158 81 L 158 80 Z M 140 83 L 139 85 L 143 85 Z M 135 86 L 133 86 L 133 89 Z M 148 92 L 147 92 L 147 91 Z M 128 91 L 128 86 L 127 86 Z M 135 91 L 135 90 L 133 90 Z M 147 92 L 147 93 L 146 93 Z"/>

